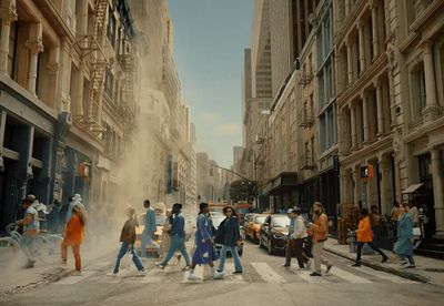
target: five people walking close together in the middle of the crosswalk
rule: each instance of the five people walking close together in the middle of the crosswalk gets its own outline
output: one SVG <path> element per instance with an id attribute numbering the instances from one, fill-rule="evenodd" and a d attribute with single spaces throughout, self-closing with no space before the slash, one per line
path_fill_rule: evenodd
<path id="1" fill-rule="evenodd" d="M 144 230 L 141 235 L 142 257 L 147 256 L 147 243 L 153 245 L 154 248 L 160 248 L 161 253 L 162 251 L 168 249 L 167 255 L 162 256 L 162 261 L 155 263 L 158 267 L 163 269 L 174 254 L 180 252 L 185 261 L 185 266 L 182 268 L 182 271 L 190 271 L 189 279 L 193 280 L 199 278 L 194 274 L 194 268 L 196 265 L 209 265 L 213 271 L 214 278 L 223 278 L 226 253 L 230 252 L 234 259 L 234 273 L 241 274 L 243 272 L 241 259 L 238 254 L 238 246 L 243 242 L 240 233 L 240 221 L 234 207 L 226 206 L 223 208 L 225 220 L 220 224 L 218 231 L 215 231 L 210 216 L 209 204 L 200 204 L 200 211 L 195 226 L 196 231 L 194 237 L 194 251 L 191 259 L 185 245 L 186 233 L 185 220 L 182 214 L 182 204 L 175 203 L 172 206 L 171 213 L 168 213 L 169 216 L 163 225 L 161 245 L 158 245 L 155 242 L 153 242 L 153 235 L 157 225 L 155 213 L 150 207 L 150 202 L 148 200 L 144 201 L 144 207 L 147 208 L 147 213 L 144 217 Z M 121 248 L 118 254 L 114 268 L 109 275 L 118 275 L 120 262 L 127 253 L 131 253 L 132 261 L 138 268 L 138 274 L 145 274 L 143 263 L 134 251 L 137 226 L 139 226 L 139 224 L 137 222 L 135 210 L 130 207 L 128 210 L 128 220 L 123 225 L 120 236 Z M 220 254 L 215 249 L 215 243 L 222 245 Z M 214 262 L 218 259 L 219 265 L 215 267 Z"/>

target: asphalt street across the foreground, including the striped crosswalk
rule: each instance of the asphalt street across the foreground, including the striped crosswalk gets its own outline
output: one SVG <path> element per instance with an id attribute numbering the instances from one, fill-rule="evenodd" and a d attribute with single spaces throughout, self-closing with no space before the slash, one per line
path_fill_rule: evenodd
<path id="1" fill-rule="evenodd" d="M 147 276 L 135 276 L 131 258 L 122 261 L 120 275 L 108 276 L 114 257 L 85 267 L 82 276 L 1 296 L 0 305 L 443 305 L 442 288 L 415 283 L 327 254 L 334 266 L 323 277 L 307 271 L 285 268 L 282 255 L 269 256 L 246 243 L 242 257 L 243 275 L 232 275 L 232 259 L 224 279 L 212 279 L 208 267 L 196 268 L 202 280 L 189 282 L 174 258 L 165 269 L 145 262 Z"/>

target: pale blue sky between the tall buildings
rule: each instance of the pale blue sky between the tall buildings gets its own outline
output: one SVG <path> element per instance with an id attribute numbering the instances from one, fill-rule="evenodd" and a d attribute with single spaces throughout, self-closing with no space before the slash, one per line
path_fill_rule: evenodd
<path id="1" fill-rule="evenodd" d="M 195 124 L 198 152 L 230 167 L 242 144 L 243 50 L 253 0 L 169 0 L 174 62 Z"/>

